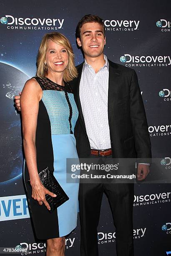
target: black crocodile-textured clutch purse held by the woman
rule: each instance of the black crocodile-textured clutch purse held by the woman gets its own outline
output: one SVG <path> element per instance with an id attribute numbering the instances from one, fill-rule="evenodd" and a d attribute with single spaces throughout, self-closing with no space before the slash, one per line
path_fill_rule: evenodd
<path id="1" fill-rule="evenodd" d="M 56 197 L 45 195 L 46 201 L 50 205 L 50 212 L 53 212 L 57 207 L 69 200 L 68 195 L 66 195 L 48 167 L 39 173 L 39 177 L 43 186 L 56 195 Z M 30 180 L 28 180 L 28 183 L 30 184 Z"/>

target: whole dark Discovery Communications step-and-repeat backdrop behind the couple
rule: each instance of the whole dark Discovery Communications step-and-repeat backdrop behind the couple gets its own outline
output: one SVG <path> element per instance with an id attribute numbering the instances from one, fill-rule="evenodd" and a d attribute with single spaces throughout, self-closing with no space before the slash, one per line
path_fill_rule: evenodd
<path id="1" fill-rule="evenodd" d="M 169 1 L 8 1 L 0 3 L 0 247 L 28 248 L 21 255 L 45 255 L 35 238 L 23 186 L 20 113 L 14 95 L 36 72 L 45 33 L 70 40 L 75 65 L 83 61 L 75 28 L 85 14 L 103 18 L 105 54 L 136 70 L 154 158 L 171 174 L 171 4 Z M 162 173 L 161 173 L 162 175 Z M 171 253 L 171 184 L 135 184 L 135 256 Z M 126 230 L 122 230 L 123 233 Z M 99 255 L 116 255 L 116 233 L 106 196 L 98 225 Z M 66 238 L 66 255 L 80 255 L 80 224 Z M 4 251 L 4 255 L 6 255 Z"/>

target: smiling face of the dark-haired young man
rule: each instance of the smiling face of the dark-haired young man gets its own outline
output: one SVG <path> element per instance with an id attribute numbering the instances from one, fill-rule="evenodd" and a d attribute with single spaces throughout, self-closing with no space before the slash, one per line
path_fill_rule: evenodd
<path id="1" fill-rule="evenodd" d="M 88 22 L 80 28 L 80 38 L 77 38 L 78 46 L 81 46 L 86 57 L 98 57 L 103 54 L 106 37 L 99 23 Z"/>

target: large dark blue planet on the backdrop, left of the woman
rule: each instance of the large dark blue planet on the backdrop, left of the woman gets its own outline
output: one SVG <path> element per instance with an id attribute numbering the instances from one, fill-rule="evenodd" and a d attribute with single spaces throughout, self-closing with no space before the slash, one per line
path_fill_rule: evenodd
<path id="1" fill-rule="evenodd" d="M 23 152 L 20 114 L 14 108 L 14 96 L 22 91 L 29 77 L 0 62 L 0 185 L 14 183 L 22 175 Z"/>

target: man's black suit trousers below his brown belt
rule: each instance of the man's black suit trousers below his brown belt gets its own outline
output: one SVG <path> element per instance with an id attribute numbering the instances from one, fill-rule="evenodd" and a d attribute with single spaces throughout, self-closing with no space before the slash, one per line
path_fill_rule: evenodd
<path id="1" fill-rule="evenodd" d="M 101 156 L 99 158 L 105 159 L 111 158 L 111 156 Z M 98 256 L 97 227 L 103 192 L 110 202 L 113 222 L 116 227 L 117 256 L 133 256 L 134 184 L 80 183 L 81 256 Z"/>

